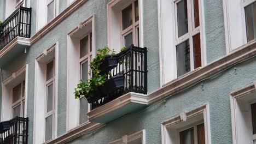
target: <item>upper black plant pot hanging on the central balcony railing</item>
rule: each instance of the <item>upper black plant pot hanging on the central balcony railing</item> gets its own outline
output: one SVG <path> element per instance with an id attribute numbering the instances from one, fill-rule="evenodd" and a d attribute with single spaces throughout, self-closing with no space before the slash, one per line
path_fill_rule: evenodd
<path id="1" fill-rule="evenodd" d="M 117 55 L 108 55 L 105 57 L 104 61 L 98 68 L 98 70 L 101 71 L 100 74 L 105 74 L 109 70 L 112 70 L 113 68 L 117 67 L 118 62 L 117 62 Z"/>

